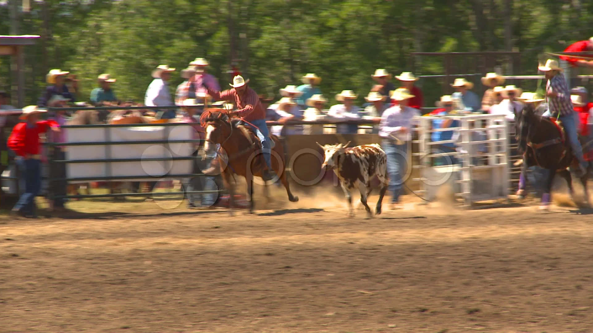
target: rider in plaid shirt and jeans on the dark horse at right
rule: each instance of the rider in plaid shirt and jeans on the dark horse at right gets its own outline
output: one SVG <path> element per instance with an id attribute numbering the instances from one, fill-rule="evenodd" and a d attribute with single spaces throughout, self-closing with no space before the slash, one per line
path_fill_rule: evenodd
<path id="1" fill-rule="evenodd" d="M 546 84 L 546 96 L 549 110 L 543 116 L 554 117 L 562 122 L 566 132 L 566 139 L 568 139 L 572 147 L 575 158 L 579 161 L 579 169 L 575 173 L 581 178 L 586 172 L 586 162 L 577 132 L 579 119 L 570 101 L 570 91 L 562 74 L 563 70 L 558 66 L 558 62 L 553 59 L 548 59 L 546 65 L 539 66 L 538 69 L 546 74 L 546 79 L 548 80 Z"/>

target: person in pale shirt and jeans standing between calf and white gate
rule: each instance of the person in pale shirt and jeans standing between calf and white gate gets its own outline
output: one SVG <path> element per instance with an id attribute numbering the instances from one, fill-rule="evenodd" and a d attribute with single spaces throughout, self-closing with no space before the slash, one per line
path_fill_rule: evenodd
<path id="1" fill-rule="evenodd" d="M 391 191 L 391 209 L 399 207 L 401 187 L 407 169 L 407 146 L 412 140 L 412 118 L 420 116 L 417 108 L 407 106 L 407 100 L 414 97 L 406 88 L 398 88 L 391 95 L 397 102 L 382 114 L 379 124 L 381 147 L 387 154 L 387 173 Z"/>

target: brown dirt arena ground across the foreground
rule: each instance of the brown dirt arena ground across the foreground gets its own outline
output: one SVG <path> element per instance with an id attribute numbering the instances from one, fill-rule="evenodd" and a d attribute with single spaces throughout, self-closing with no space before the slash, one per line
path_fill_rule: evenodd
<path id="1" fill-rule="evenodd" d="M 330 199 L 0 220 L 0 331 L 593 332 L 591 211 Z"/>

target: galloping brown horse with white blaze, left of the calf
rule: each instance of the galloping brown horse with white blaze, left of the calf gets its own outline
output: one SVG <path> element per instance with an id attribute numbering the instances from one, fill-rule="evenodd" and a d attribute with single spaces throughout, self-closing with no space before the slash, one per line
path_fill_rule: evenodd
<path id="1" fill-rule="evenodd" d="M 216 150 L 216 144 L 219 144 L 228 156 L 226 168 L 222 171 L 222 178 L 230 194 L 231 214 L 235 186 L 231 178 L 234 178 L 234 174 L 245 177 L 247 181 L 249 212 L 253 213 L 253 177 L 262 177 L 262 171 L 265 167 L 259 140 L 257 140 L 253 132 L 247 130 L 241 124 L 240 119 L 229 118 L 228 114 L 220 108 L 204 110 L 202 116 L 200 116 L 200 124 L 206 129 L 204 152 L 206 154 L 213 153 Z M 275 135 L 270 135 L 270 139 L 275 143 L 274 148 L 272 148 L 272 169 L 286 188 L 288 200 L 296 202 L 298 197 L 292 195 L 286 178 L 286 161 L 282 143 Z M 267 183 L 265 186 L 267 194 Z"/>

